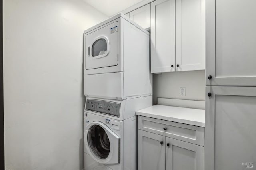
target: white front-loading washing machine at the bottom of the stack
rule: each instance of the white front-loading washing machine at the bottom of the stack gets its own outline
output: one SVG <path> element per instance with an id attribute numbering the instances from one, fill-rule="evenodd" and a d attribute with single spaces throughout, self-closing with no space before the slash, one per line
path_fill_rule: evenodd
<path id="1" fill-rule="evenodd" d="M 84 110 L 85 170 L 136 170 L 135 111 L 152 105 L 152 96 L 127 100 L 87 97 Z"/>

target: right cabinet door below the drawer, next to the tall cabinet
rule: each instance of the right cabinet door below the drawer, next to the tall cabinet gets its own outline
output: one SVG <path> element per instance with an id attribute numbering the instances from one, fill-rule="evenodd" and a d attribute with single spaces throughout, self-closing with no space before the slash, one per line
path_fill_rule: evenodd
<path id="1" fill-rule="evenodd" d="M 204 147 L 166 137 L 166 170 L 204 170 Z"/>

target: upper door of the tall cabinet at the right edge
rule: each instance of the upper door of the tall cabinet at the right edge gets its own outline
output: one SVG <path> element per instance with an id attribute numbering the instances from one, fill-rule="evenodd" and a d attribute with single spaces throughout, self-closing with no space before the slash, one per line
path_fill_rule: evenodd
<path id="1" fill-rule="evenodd" d="M 206 85 L 256 86 L 255 7 L 255 0 L 206 1 Z"/>

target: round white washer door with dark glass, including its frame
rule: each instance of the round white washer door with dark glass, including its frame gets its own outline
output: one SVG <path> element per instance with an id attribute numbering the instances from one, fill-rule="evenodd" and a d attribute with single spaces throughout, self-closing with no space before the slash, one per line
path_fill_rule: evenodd
<path id="1" fill-rule="evenodd" d="M 102 164 L 120 163 L 120 137 L 110 128 L 95 121 L 86 127 L 85 132 L 87 150 L 95 161 Z"/>

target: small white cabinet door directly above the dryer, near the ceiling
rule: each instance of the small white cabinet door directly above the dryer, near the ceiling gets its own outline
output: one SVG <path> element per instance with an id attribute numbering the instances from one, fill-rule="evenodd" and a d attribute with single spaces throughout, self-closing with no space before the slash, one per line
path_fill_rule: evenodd
<path id="1" fill-rule="evenodd" d="M 150 4 L 130 12 L 130 19 L 139 24 L 142 28 L 150 28 Z"/>

